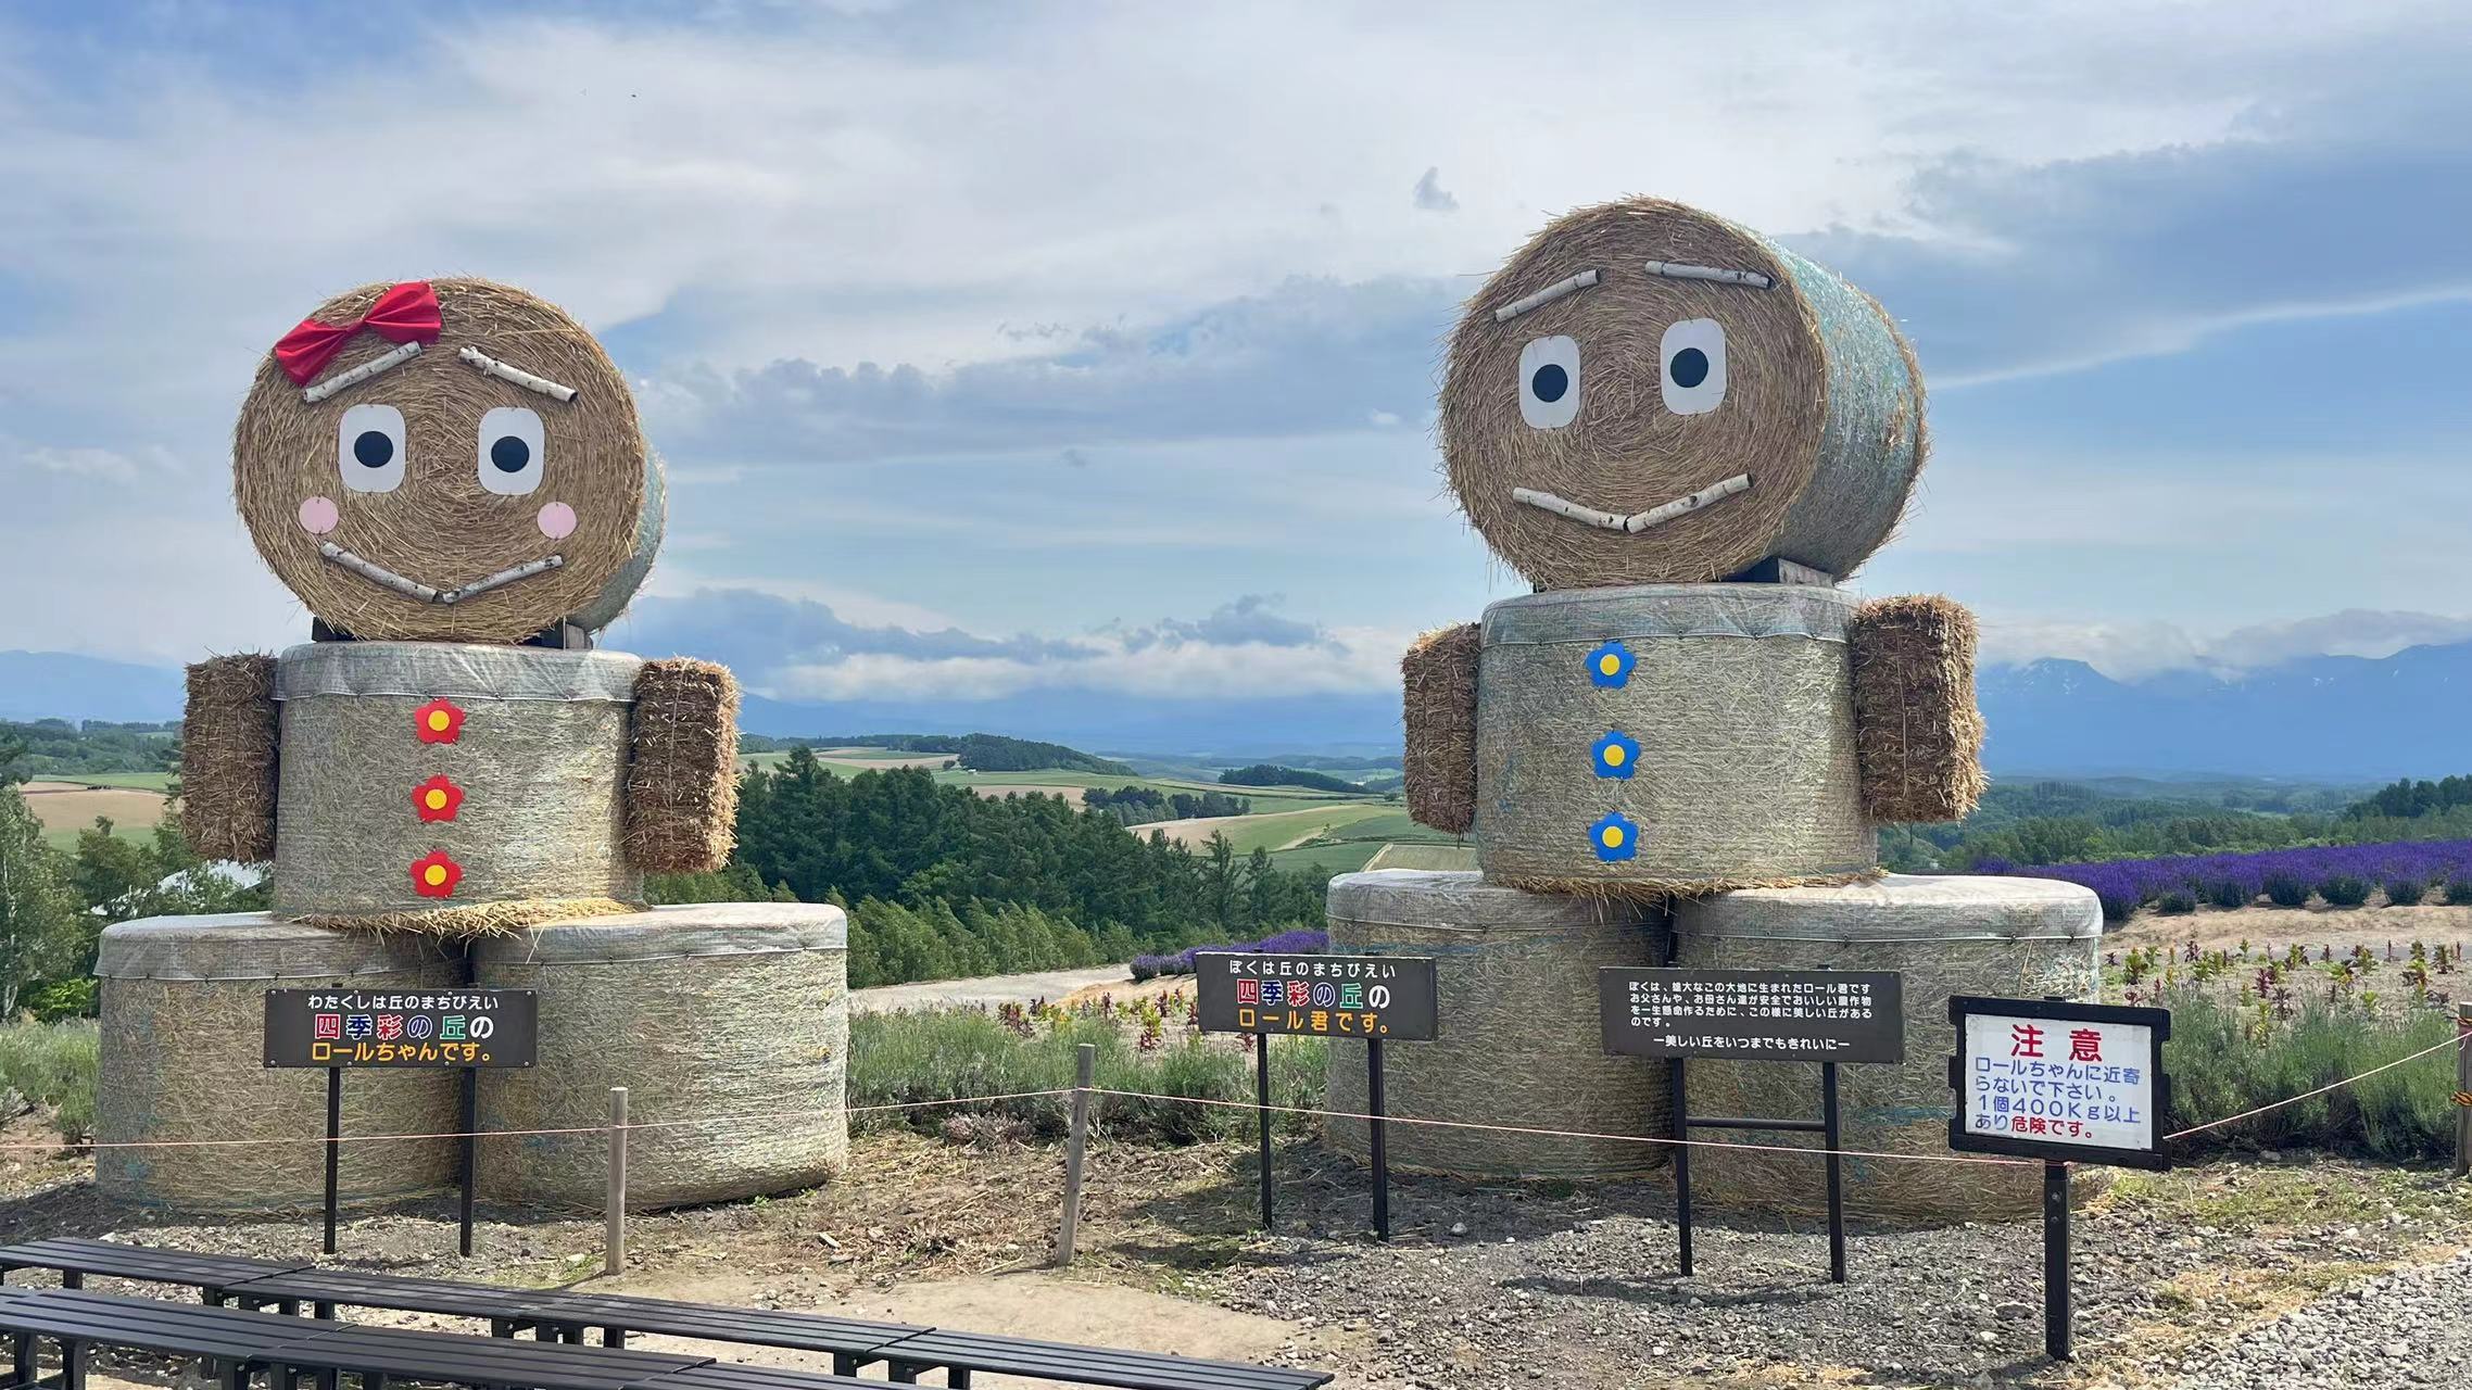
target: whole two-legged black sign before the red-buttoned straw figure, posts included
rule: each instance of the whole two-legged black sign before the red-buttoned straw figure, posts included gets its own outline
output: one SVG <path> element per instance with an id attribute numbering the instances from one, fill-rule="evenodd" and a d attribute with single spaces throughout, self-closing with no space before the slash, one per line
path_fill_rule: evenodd
<path id="1" fill-rule="evenodd" d="M 539 999 L 531 989 L 267 989 L 267 1066 L 326 1071 L 326 1254 L 336 1254 L 344 1158 L 344 1068 L 457 1076 L 457 1249 L 472 1254 L 472 1182 L 480 1155 L 480 1071 L 531 1066 L 539 1056 Z"/>

